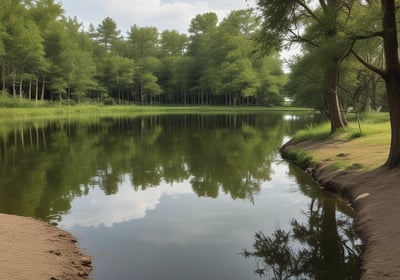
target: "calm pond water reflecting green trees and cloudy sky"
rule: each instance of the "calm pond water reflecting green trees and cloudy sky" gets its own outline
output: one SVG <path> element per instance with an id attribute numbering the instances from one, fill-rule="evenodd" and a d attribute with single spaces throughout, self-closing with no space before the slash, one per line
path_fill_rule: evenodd
<path id="1" fill-rule="evenodd" d="M 285 113 L 19 123 L 0 212 L 57 222 L 99 279 L 359 279 L 352 212 L 277 148 Z"/>

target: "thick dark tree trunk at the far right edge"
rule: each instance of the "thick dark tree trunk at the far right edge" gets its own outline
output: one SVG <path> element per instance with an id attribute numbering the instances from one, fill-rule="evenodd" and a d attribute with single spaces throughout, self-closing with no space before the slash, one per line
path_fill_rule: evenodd
<path id="1" fill-rule="evenodd" d="M 391 143 L 385 165 L 400 165 L 400 61 L 397 41 L 395 0 L 381 0 L 383 9 L 383 46 L 386 71 L 383 75 L 388 97 Z"/>

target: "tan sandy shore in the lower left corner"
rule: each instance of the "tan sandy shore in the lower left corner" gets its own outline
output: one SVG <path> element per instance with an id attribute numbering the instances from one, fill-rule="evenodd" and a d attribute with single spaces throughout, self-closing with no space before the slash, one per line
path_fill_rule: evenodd
<path id="1" fill-rule="evenodd" d="M 0 214 L 0 279 L 89 279 L 91 259 L 76 239 L 47 223 Z"/>

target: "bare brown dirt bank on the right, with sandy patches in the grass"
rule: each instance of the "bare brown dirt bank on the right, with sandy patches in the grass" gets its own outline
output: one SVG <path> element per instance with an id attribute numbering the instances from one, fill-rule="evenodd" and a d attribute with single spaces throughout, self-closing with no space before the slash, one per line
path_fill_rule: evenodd
<path id="1" fill-rule="evenodd" d="M 325 148 L 343 154 L 346 149 L 346 144 L 340 141 L 294 145 L 313 154 Z M 353 147 L 344 153 L 350 163 L 352 155 L 357 154 L 355 150 Z M 322 186 L 340 194 L 355 209 L 355 227 L 366 245 L 362 279 L 400 279 L 400 169 L 334 171 L 327 164 L 322 160 L 312 174 Z"/>

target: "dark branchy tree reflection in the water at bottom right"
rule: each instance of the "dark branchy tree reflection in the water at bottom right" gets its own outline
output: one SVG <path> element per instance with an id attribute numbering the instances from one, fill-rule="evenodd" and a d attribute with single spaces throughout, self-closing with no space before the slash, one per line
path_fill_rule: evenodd
<path id="1" fill-rule="evenodd" d="M 270 237 L 258 232 L 253 251 L 256 272 L 272 279 L 360 279 L 362 247 L 351 223 L 335 213 L 335 201 L 312 199 L 307 223 L 293 220 L 292 230 L 277 229 Z"/>

